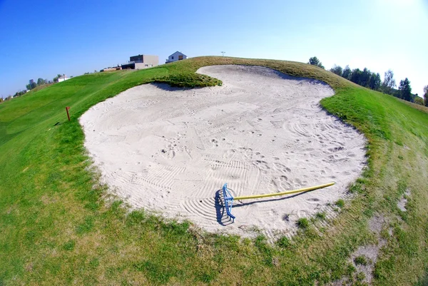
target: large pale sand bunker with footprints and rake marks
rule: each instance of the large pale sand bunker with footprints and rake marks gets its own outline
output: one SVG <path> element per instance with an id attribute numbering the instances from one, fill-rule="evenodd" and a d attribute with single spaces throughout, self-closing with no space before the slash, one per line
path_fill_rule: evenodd
<path id="1" fill-rule="evenodd" d="M 223 86 L 136 86 L 81 116 L 85 146 L 111 190 L 133 208 L 243 236 L 290 235 L 299 218 L 333 213 L 327 205 L 362 173 L 366 141 L 320 108 L 332 88 L 260 66 L 198 73 Z M 222 206 L 224 183 L 241 196 L 331 181 L 309 193 L 235 200 L 235 223 Z"/>

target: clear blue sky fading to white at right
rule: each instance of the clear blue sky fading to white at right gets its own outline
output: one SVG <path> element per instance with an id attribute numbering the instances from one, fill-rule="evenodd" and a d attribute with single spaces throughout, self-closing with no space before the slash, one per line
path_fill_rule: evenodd
<path id="1" fill-rule="evenodd" d="M 428 1 L 0 0 L 0 96 L 29 79 L 78 76 L 156 54 L 218 55 L 391 68 L 422 96 Z"/>

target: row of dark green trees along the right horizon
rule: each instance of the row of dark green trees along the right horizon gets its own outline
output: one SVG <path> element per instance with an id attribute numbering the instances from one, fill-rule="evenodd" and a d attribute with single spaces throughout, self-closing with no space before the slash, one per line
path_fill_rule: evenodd
<path id="1" fill-rule="evenodd" d="M 310 58 L 307 63 L 324 68 L 321 61 L 316 56 Z M 350 66 L 342 68 L 341 66 L 334 65 L 330 68 L 330 71 L 360 86 L 387 93 L 397 98 L 404 99 L 404 101 L 428 106 L 428 86 L 424 87 L 424 98 L 420 98 L 417 94 L 412 93 L 409 78 L 404 78 L 402 81 L 399 81 L 398 89 L 396 89 L 397 84 L 394 79 L 394 72 L 390 69 L 384 73 L 384 81 L 381 80 L 379 73 L 374 73 L 368 68 L 364 68 L 363 70 L 354 68 L 351 70 Z"/>

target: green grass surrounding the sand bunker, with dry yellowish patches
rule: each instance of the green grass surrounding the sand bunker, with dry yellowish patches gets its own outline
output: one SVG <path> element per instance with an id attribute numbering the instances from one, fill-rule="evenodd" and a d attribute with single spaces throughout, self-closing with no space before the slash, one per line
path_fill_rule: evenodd
<path id="1" fill-rule="evenodd" d="M 152 81 L 215 86 L 220 81 L 194 72 L 236 63 L 329 83 L 335 96 L 322 106 L 367 137 L 370 157 L 350 187 L 353 198 L 322 230 L 315 223 L 273 245 L 203 233 L 189 222 L 129 213 L 91 168 L 78 124 L 89 107 Z M 374 285 L 427 281 L 427 113 L 315 66 L 201 57 L 78 76 L 2 103 L 0 150 L 0 285 L 325 285 L 357 275 L 350 255 L 375 242 L 368 222 L 377 213 L 393 231 L 374 265 Z"/>

